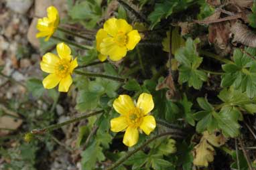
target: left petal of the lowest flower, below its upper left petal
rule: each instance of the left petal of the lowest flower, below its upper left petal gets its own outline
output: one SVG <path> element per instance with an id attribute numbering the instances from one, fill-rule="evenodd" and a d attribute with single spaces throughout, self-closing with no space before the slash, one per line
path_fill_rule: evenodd
<path id="1" fill-rule="evenodd" d="M 111 131 L 113 131 L 115 133 L 123 131 L 128 126 L 125 116 L 119 116 L 117 118 L 112 118 L 110 120 L 110 124 L 111 124 Z"/>

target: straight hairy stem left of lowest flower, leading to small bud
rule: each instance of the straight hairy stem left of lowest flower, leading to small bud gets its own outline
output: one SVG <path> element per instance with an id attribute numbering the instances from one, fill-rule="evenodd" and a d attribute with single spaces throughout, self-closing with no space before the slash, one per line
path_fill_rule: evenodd
<path id="1" fill-rule="evenodd" d="M 78 122 L 78 121 L 80 121 L 80 120 L 82 120 L 84 118 L 88 118 L 90 116 L 95 116 L 95 115 L 101 114 L 103 112 L 104 112 L 104 110 L 99 110 L 97 112 L 92 112 L 92 113 L 89 113 L 89 114 L 84 114 L 83 116 L 78 116 L 76 118 L 71 118 L 70 120 L 67 120 L 65 122 L 61 122 L 59 124 L 52 124 L 52 125 L 44 128 L 44 129 L 34 129 L 34 130 L 31 131 L 31 133 L 34 134 L 34 135 L 41 135 L 41 134 L 44 134 L 44 133 L 48 133 L 50 131 L 54 131 L 55 129 L 59 129 L 60 127 L 65 126 L 67 124 L 70 124 L 72 122 Z"/>

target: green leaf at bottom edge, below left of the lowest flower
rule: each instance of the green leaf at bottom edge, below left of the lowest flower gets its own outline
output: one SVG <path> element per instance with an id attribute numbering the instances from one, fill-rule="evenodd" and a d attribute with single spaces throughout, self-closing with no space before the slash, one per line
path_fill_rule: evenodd
<path id="1" fill-rule="evenodd" d="M 85 151 L 82 152 L 82 170 L 95 169 L 97 161 L 104 161 L 105 155 L 103 154 L 103 148 L 99 146 L 99 143 L 94 141 Z"/>

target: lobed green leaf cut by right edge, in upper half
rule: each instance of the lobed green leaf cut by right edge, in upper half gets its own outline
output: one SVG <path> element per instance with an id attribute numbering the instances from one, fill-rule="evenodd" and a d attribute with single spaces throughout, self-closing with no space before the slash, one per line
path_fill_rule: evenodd
<path id="1" fill-rule="evenodd" d="M 249 56 L 250 55 L 250 56 Z M 256 55 L 256 48 L 245 48 L 245 53 L 236 49 L 233 54 L 234 63 L 224 64 L 222 69 L 225 74 L 222 75 L 221 86 L 234 86 L 247 96 L 253 98 L 256 96 L 256 62 L 251 56 Z"/>

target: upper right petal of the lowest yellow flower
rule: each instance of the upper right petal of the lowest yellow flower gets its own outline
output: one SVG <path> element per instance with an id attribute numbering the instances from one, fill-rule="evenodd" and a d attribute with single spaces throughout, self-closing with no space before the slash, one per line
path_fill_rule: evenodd
<path id="1" fill-rule="evenodd" d="M 137 108 L 140 108 L 144 114 L 149 113 L 151 110 L 153 110 L 153 98 L 151 94 L 147 94 L 143 92 L 141 95 L 139 95 L 139 99 L 137 102 Z"/>

